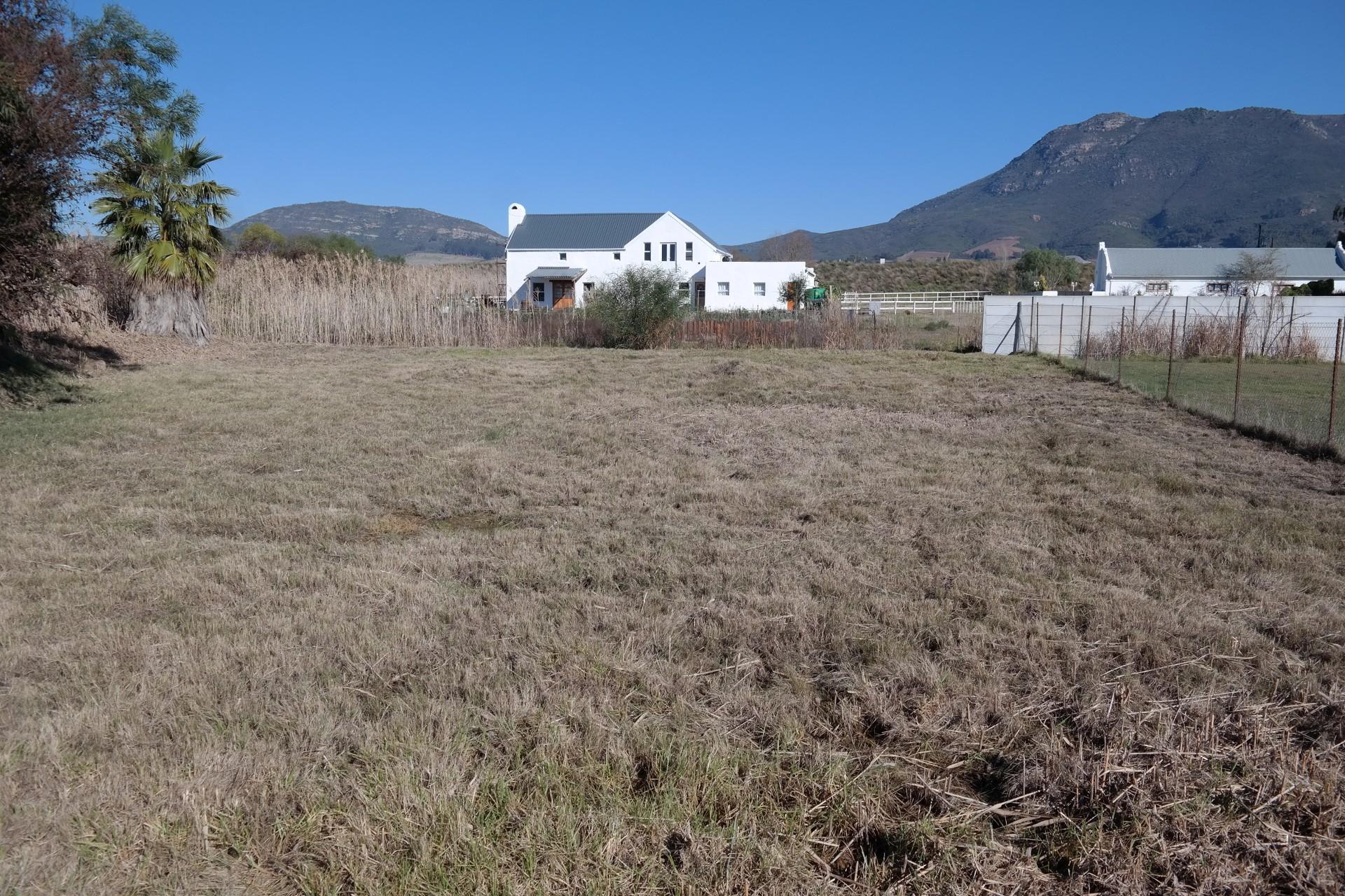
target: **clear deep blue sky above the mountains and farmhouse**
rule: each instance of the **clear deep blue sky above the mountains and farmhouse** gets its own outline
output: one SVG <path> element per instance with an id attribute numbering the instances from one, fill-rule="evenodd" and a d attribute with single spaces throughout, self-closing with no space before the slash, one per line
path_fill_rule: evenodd
<path id="1" fill-rule="evenodd" d="M 178 40 L 235 218 L 344 199 L 503 230 L 522 201 L 737 243 L 886 220 L 1102 111 L 1345 113 L 1310 62 L 1328 0 L 122 5 Z"/>

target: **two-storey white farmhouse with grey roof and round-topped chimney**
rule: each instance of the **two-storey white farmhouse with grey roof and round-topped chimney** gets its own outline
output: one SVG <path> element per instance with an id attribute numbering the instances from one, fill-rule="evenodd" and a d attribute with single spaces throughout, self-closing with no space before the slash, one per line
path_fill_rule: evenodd
<path id="1" fill-rule="evenodd" d="M 804 261 L 734 262 L 695 224 L 672 212 L 529 215 L 508 207 L 506 281 L 510 308 L 574 308 L 628 265 L 677 273 L 699 310 L 783 308 L 780 285 L 816 277 Z"/>

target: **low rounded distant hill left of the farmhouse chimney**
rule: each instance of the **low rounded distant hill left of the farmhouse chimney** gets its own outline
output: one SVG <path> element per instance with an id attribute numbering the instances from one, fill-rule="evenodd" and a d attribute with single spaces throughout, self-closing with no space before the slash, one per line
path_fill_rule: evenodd
<path id="1" fill-rule="evenodd" d="M 227 232 L 237 236 L 247 224 L 257 222 L 285 236 L 346 234 L 379 255 L 436 253 L 499 258 L 504 254 L 504 238 L 490 227 L 425 208 L 340 201 L 278 206 L 243 218 L 229 227 Z"/>

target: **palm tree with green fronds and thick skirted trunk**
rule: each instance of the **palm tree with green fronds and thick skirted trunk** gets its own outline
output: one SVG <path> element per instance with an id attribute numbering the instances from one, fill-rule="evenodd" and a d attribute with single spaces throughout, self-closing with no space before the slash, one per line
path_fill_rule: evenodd
<path id="1" fill-rule="evenodd" d="M 207 180 L 219 156 L 202 141 L 182 146 L 172 130 L 145 134 L 113 149 L 93 203 L 112 254 L 139 283 L 126 329 L 204 344 L 210 340 L 202 292 L 215 278 L 223 247 L 221 204 L 234 191 Z"/>

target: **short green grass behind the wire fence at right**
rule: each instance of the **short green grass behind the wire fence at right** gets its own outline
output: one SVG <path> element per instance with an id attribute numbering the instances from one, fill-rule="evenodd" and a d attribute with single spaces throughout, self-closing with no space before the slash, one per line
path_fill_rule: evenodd
<path id="1" fill-rule="evenodd" d="M 1079 367 L 1077 359 L 1064 359 Z M 1116 376 L 1116 359 L 1089 360 L 1088 369 Z M 1237 365 L 1231 357 L 1178 359 L 1171 398 L 1180 407 L 1221 420 L 1233 419 Z M 1342 375 L 1345 379 L 1345 375 Z M 1120 382 L 1153 398 L 1167 392 L 1167 359 L 1126 357 Z M 1345 392 L 1345 382 L 1340 384 Z M 1326 361 L 1244 359 L 1237 422 L 1282 434 L 1305 446 L 1326 442 L 1332 400 L 1332 365 Z M 1345 395 L 1337 396 L 1334 445 L 1345 450 Z"/>

